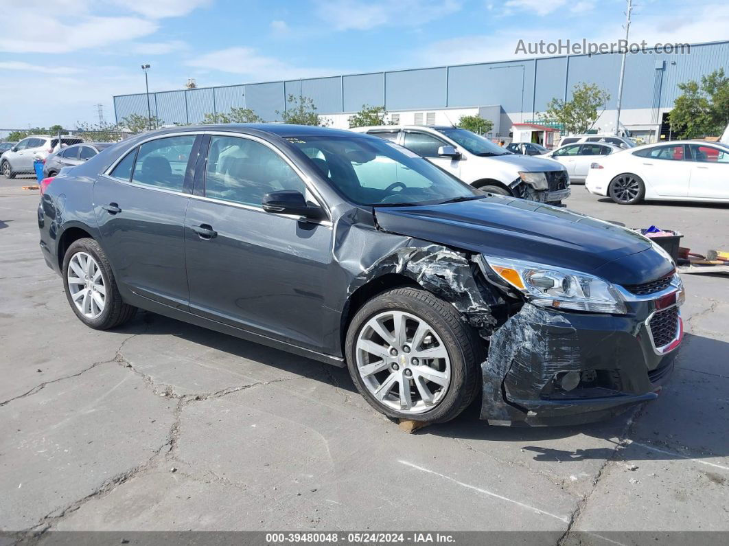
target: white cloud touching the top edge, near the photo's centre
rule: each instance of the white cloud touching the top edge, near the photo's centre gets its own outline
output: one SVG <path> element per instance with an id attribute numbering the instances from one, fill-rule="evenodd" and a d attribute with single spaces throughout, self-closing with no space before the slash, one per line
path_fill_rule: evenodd
<path id="1" fill-rule="evenodd" d="M 459 0 L 316 0 L 316 15 L 336 31 L 418 26 L 460 9 Z"/>

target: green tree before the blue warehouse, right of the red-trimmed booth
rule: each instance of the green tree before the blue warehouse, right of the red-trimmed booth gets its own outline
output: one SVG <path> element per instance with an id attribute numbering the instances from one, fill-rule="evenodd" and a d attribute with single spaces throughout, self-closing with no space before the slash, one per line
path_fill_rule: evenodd
<path id="1" fill-rule="evenodd" d="M 563 124 L 567 133 L 586 133 L 605 112 L 609 100 L 610 94 L 599 85 L 581 82 L 572 87 L 572 100 L 553 98 L 539 117 Z"/>

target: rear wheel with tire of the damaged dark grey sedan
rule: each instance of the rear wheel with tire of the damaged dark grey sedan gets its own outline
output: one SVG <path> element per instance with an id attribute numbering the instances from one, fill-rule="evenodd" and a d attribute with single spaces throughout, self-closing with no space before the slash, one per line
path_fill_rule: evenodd
<path id="1" fill-rule="evenodd" d="M 78 239 L 69 246 L 63 257 L 63 288 L 71 309 L 87 327 L 114 328 L 136 313 L 136 307 L 122 301 L 109 260 L 94 239 Z"/>

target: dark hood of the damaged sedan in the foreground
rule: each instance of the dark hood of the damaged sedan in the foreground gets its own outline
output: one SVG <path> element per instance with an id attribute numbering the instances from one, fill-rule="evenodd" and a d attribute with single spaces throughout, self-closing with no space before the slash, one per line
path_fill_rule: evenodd
<path id="1" fill-rule="evenodd" d="M 674 269 L 638 233 L 521 199 L 490 196 L 443 205 L 375 207 L 375 217 L 392 233 L 594 273 L 616 284 L 642 284 Z"/>

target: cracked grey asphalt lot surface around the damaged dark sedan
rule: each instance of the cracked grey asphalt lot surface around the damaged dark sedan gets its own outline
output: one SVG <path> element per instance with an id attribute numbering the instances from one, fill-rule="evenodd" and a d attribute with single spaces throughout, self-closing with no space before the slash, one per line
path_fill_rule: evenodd
<path id="1" fill-rule="evenodd" d="M 540 429 L 474 405 L 405 434 L 345 369 L 152 313 L 85 327 L 42 258 L 33 182 L 0 178 L 1 530 L 729 531 L 727 276 L 684 276 L 657 402 Z M 580 185 L 568 206 L 729 248 L 728 206 L 618 206 Z"/>

